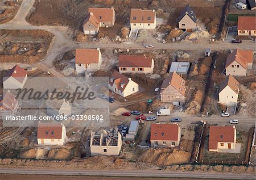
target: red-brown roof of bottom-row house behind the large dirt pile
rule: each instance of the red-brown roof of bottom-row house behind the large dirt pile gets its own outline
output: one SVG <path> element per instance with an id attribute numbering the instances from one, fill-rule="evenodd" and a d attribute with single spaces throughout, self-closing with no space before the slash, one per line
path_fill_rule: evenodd
<path id="1" fill-rule="evenodd" d="M 151 124 L 150 140 L 177 141 L 179 124 Z"/>

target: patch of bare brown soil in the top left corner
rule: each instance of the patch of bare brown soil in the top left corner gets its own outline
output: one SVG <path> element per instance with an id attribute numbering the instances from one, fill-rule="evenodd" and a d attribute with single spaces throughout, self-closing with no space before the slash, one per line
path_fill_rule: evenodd
<path id="1" fill-rule="evenodd" d="M 19 10 L 22 0 L 0 1 L 0 24 L 12 20 Z"/>

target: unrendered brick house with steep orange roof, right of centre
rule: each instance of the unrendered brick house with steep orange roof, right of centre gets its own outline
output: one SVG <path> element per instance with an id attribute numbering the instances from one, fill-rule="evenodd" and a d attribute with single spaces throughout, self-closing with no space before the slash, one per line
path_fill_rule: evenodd
<path id="1" fill-rule="evenodd" d="M 185 102 L 185 90 L 185 80 L 176 72 L 171 72 L 162 83 L 161 101 L 172 102 L 176 106 L 183 105 Z"/>

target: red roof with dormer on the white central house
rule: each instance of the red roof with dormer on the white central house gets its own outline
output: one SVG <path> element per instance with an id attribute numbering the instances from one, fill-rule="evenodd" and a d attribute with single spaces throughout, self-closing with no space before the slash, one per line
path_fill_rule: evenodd
<path id="1" fill-rule="evenodd" d="M 118 87 L 118 90 L 123 91 L 129 83 L 129 78 L 127 78 L 123 74 L 118 73 L 117 71 L 114 71 L 112 76 L 109 78 L 109 84 L 113 85 L 114 83 Z M 123 88 L 121 87 L 121 84 L 123 84 Z"/>

